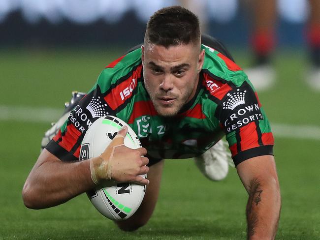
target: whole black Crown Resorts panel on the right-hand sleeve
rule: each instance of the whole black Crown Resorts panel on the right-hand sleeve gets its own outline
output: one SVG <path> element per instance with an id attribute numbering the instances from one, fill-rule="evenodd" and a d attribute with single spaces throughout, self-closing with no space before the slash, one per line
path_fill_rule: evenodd
<path id="1" fill-rule="evenodd" d="M 263 120 L 255 92 L 247 82 L 224 95 L 216 116 L 226 134 L 256 120 Z"/>

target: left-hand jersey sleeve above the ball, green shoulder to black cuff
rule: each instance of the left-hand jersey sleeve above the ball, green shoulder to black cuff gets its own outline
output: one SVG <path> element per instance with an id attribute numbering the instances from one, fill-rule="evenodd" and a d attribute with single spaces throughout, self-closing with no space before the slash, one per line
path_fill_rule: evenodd
<path id="1" fill-rule="evenodd" d="M 128 54 L 129 55 L 129 54 Z M 100 73 L 95 86 L 71 111 L 46 149 L 63 161 L 79 159 L 82 139 L 95 120 L 116 116 L 128 103 L 137 86 L 142 66 L 132 53 L 111 62 Z"/>

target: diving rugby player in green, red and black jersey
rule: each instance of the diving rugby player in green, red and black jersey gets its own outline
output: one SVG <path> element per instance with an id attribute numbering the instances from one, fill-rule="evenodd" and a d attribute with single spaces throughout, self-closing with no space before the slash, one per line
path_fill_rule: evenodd
<path id="1" fill-rule="evenodd" d="M 156 206 L 163 159 L 196 157 L 208 178 L 221 180 L 226 157 L 216 157 L 214 148 L 225 136 L 249 195 L 248 238 L 274 239 L 281 197 L 267 117 L 223 45 L 212 38 L 206 44 L 191 11 L 171 6 L 154 13 L 141 48 L 106 66 L 40 153 L 23 188 L 25 205 L 56 206 L 102 180 L 147 184 L 139 209 L 117 222 L 120 229 L 134 231 Z M 101 156 L 77 161 L 88 127 L 105 115 L 126 121 L 143 148 L 125 147 L 123 128 Z M 145 173 L 148 179 L 139 176 Z"/>

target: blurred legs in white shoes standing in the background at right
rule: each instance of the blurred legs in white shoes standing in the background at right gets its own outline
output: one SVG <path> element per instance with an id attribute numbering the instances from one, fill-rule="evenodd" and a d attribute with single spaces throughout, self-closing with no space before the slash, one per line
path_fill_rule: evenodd
<path id="1" fill-rule="evenodd" d="M 257 90 L 270 89 L 275 82 L 275 70 L 270 57 L 276 45 L 276 0 L 249 0 L 253 12 L 251 46 L 254 63 L 247 69 L 249 79 Z M 320 90 L 320 1 L 309 0 L 310 15 L 306 26 L 311 67 L 306 74 L 306 82 L 313 90 Z"/>

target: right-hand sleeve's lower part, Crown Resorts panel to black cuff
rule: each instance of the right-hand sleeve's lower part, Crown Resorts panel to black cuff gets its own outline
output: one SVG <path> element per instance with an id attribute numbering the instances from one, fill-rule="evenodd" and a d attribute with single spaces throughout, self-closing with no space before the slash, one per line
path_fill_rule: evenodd
<path id="1" fill-rule="evenodd" d="M 273 155 L 273 135 L 256 92 L 247 81 L 241 86 L 232 82 L 227 85 L 216 117 L 224 129 L 235 165 L 252 157 Z"/>

